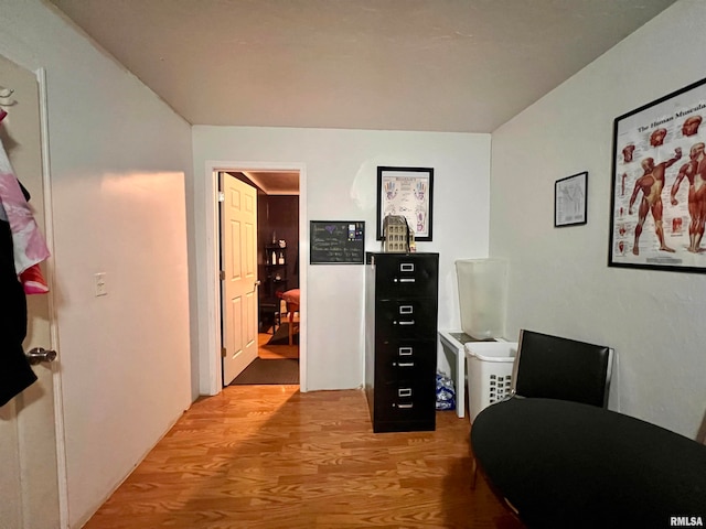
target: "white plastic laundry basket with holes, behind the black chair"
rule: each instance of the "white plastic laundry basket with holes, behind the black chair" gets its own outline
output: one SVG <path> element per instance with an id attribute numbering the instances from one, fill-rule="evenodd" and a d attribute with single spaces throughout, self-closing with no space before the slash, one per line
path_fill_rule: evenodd
<path id="1" fill-rule="evenodd" d="M 471 422 L 490 404 L 510 397 L 517 342 L 466 344 L 468 407 Z"/>

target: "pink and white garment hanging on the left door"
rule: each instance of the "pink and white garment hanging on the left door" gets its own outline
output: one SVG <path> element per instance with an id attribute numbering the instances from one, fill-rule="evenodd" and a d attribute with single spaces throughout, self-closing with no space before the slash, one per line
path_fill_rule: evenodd
<path id="1" fill-rule="evenodd" d="M 28 281 L 25 292 L 28 294 L 47 292 L 46 281 L 44 281 L 38 264 L 50 257 L 49 248 L 36 220 L 34 220 L 30 205 L 24 198 L 20 182 L 14 175 L 12 164 L 1 141 L 0 206 L 0 218 L 7 217 L 12 231 L 14 269 L 21 281 L 23 276 Z M 36 267 L 36 269 L 24 273 L 32 267 Z"/>

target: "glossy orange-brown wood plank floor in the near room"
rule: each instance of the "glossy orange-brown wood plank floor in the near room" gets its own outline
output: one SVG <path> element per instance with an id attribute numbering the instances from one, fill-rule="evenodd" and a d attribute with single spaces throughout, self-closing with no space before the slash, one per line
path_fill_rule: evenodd
<path id="1" fill-rule="evenodd" d="M 521 529 L 479 475 L 468 419 L 374 434 L 364 392 L 232 386 L 196 401 L 87 529 Z"/>

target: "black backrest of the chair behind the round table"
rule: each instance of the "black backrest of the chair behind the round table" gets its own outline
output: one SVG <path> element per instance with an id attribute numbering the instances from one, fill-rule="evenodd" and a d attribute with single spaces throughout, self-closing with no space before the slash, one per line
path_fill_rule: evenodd
<path id="1" fill-rule="evenodd" d="M 606 408 L 612 363 L 610 347 L 522 330 L 511 391 Z"/>

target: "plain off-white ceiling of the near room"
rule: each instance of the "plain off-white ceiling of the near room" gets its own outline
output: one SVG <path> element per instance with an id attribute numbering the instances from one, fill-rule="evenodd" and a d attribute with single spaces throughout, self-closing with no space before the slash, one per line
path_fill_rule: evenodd
<path id="1" fill-rule="evenodd" d="M 675 0 L 45 0 L 192 125 L 492 132 Z"/>

